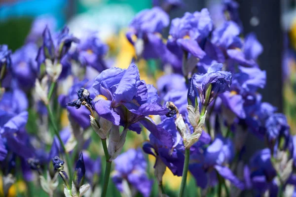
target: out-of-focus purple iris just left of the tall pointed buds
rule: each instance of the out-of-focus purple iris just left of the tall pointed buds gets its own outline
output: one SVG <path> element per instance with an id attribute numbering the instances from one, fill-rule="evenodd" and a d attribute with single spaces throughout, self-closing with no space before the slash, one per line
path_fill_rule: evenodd
<path id="1" fill-rule="evenodd" d="M 37 45 L 28 43 L 11 56 L 13 76 L 19 87 L 24 90 L 29 90 L 35 85 L 38 75 L 37 62 L 35 61 L 37 50 Z"/>

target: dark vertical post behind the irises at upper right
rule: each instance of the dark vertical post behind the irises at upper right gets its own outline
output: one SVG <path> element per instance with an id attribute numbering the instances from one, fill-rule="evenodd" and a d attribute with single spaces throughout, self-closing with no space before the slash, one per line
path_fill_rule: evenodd
<path id="1" fill-rule="evenodd" d="M 264 51 L 259 66 L 266 70 L 266 87 L 262 100 L 283 110 L 281 0 L 237 0 L 244 34 L 255 32 Z"/>

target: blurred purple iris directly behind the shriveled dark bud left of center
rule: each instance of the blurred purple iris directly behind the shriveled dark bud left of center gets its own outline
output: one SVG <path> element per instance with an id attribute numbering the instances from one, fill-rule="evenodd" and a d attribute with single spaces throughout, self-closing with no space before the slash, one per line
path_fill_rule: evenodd
<path id="1" fill-rule="evenodd" d="M 75 109 L 74 107 L 66 105 L 71 101 L 77 100 L 77 90 L 79 90 L 82 87 L 90 91 L 91 98 L 95 97 L 91 88 L 91 83 L 89 83 L 87 79 L 84 79 L 80 82 L 78 80 L 74 80 L 74 85 L 69 89 L 68 95 L 60 95 L 59 102 L 62 107 L 67 108 L 71 118 L 73 118 L 74 121 L 80 125 L 80 127 L 86 129 L 90 126 L 89 110 L 85 107 Z"/>

